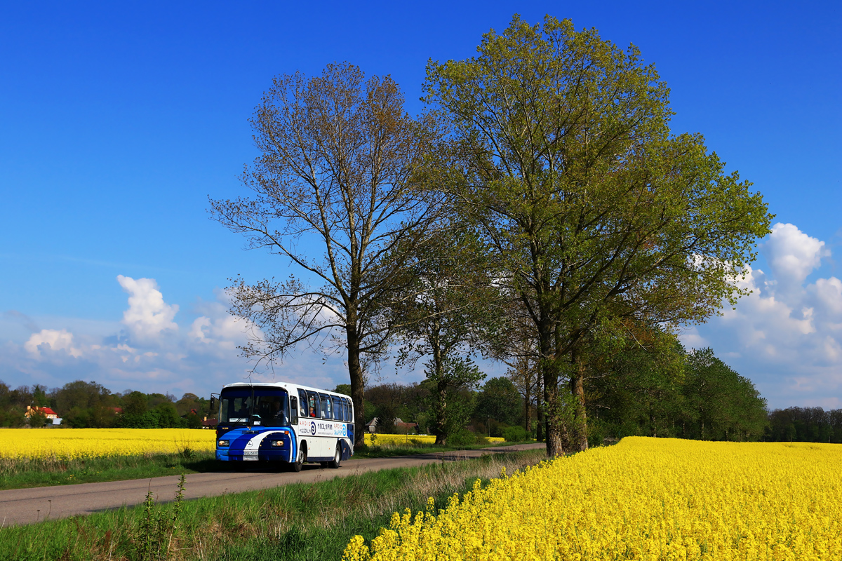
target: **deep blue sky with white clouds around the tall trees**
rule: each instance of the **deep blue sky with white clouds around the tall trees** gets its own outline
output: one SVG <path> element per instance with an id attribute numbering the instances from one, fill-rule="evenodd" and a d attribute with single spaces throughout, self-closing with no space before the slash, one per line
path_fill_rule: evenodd
<path id="1" fill-rule="evenodd" d="M 776 214 L 752 297 L 685 343 L 711 345 L 773 407 L 842 406 L 830 2 L 0 3 L 0 379 L 207 394 L 241 378 L 221 288 L 289 271 L 205 209 L 242 193 L 272 77 L 350 61 L 391 74 L 416 113 L 426 61 L 472 56 L 515 12 L 640 47 L 671 87 L 673 130 L 705 135 Z M 306 348 L 275 375 L 347 376 Z"/>

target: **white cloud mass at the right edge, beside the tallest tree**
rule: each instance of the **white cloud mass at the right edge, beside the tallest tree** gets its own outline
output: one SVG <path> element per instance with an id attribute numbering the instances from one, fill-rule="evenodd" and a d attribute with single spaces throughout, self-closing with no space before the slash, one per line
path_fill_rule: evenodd
<path id="1" fill-rule="evenodd" d="M 747 267 L 744 283 L 752 294 L 685 342 L 709 342 L 754 380 L 771 407 L 830 403 L 842 393 L 842 282 L 807 282 L 830 251 L 791 224 L 774 225 L 760 251 L 771 274 Z"/>

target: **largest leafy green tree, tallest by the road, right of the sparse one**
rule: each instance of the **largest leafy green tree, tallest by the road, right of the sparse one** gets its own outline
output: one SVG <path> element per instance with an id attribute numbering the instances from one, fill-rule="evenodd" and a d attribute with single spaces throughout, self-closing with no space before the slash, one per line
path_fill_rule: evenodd
<path id="1" fill-rule="evenodd" d="M 515 16 L 477 51 L 429 63 L 426 100 L 450 126 L 429 183 L 482 229 L 534 325 L 547 453 L 562 453 L 571 408 L 581 450 L 594 328 L 716 313 L 743 294 L 738 273 L 770 215 L 701 135 L 670 133 L 669 89 L 633 45 Z"/>

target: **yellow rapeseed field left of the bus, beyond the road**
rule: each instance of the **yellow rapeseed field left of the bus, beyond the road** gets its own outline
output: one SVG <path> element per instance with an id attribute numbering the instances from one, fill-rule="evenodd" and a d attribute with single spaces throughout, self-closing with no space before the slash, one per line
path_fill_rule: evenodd
<path id="1" fill-rule="evenodd" d="M 216 448 L 216 431 L 196 429 L 3 429 L 3 458 L 91 458 Z"/>

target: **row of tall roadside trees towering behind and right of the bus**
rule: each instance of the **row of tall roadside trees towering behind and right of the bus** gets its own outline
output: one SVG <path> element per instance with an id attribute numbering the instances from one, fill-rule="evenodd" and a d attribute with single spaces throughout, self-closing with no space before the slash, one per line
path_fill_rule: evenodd
<path id="1" fill-rule="evenodd" d="M 391 349 L 423 361 L 441 411 L 464 407 L 482 352 L 536 373 L 523 391 L 548 454 L 583 450 L 594 408 L 614 399 L 589 380 L 605 396 L 630 384 L 617 361 L 639 341 L 669 342 L 664 329 L 744 294 L 769 232 L 762 197 L 701 135 L 671 132 L 669 88 L 636 47 L 569 20 L 515 16 L 477 56 L 430 61 L 423 114 L 403 101 L 390 77 L 349 64 L 265 93 L 250 193 L 210 212 L 298 274 L 232 284 L 232 313 L 259 328 L 244 355 L 343 348 L 362 424 L 366 379 Z M 705 418 L 683 426 L 720 430 Z"/>

